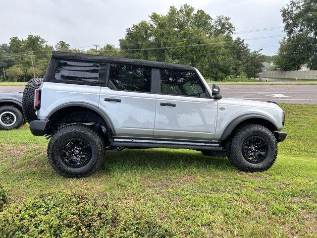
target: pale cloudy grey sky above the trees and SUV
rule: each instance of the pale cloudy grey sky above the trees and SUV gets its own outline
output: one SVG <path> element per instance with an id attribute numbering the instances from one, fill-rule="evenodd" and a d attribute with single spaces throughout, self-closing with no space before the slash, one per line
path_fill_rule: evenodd
<path id="1" fill-rule="evenodd" d="M 191 4 L 212 16 L 231 17 L 237 36 L 251 49 L 274 55 L 283 35 L 280 8 L 289 0 L 0 0 L 0 44 L 10 37 L 40 35 L 55 45 L 66 41 L 72 48 L 118 45 L 125 29 L 152 12 L 166 14 L 170 5 Z M 273 28 L 246 33 L 245 31 Z M 263 39 L 254 39 L 254 38 Z"/>

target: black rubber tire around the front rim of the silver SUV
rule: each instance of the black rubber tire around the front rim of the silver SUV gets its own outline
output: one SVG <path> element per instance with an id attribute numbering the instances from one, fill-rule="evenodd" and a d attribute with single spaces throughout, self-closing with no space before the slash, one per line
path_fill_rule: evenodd
<path id="1" fill-rule="evenodd" d="M 251 136 L 260 136 L 267 145 L 267 154 L 262 162 L 257 164 L 248 162 L 242 152 L 242 145 Z M 237 169 L 245 172 L 260 172 L 268 170 L 277 156 L 277 141 L 273 133 L 263 125 L 248 124 L 239 128 L 230 140 L 228 159 Z"/>

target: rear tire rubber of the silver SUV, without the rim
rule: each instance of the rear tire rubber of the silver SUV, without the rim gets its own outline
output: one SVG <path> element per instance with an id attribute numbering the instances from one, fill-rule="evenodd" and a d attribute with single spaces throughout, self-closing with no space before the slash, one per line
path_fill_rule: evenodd
<path id="1" fill-rule="evenodd" d="M 71 138 L 85 140 L 92 149 L 92 156 L 88 164 L 80 168 L 67 166 L 61 157 L 63 143 Z M 95 173 L 105 158 L 105 140 L 99 132 L 85 125 L 66 125 L 58 130 L 50 140 L 48 146 L 48 160 L 53 169 L 66 178 L 83 178 Z"/>

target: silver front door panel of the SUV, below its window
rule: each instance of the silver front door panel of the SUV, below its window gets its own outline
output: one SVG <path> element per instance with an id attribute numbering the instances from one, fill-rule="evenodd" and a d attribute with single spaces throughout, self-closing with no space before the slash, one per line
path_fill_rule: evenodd
<path id="1" fill-rule="evenodd" d="M 156 94 L 154 136 L 180 139 L 213 139 L 217 102 L 211 98 Z M 173 103 L 176 106 L 161 106 Z"/>

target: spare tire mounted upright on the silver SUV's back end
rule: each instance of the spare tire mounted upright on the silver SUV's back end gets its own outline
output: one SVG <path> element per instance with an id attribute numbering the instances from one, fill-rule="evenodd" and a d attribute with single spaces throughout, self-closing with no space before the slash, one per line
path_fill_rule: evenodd
<path id="1" fill-rule="evenodd" d="M 42 84 L 42 78 L 32 78 L 27 82 L 22 98 L 22 111 L 23 116 L 27 122 L 31 122 L 37 119 L 34 109 L 34 91 L 38 89 Z"/>

